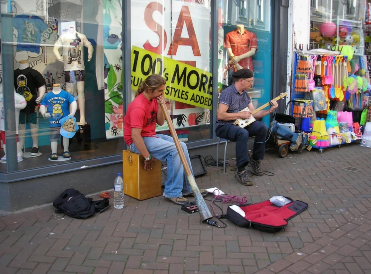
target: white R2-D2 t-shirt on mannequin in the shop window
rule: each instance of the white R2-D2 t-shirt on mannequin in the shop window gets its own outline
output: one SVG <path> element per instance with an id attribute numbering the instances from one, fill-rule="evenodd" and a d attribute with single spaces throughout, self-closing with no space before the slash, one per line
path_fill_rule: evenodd
<path id="1" fill-rule="evenodd" d="M 77 31 L 59 36 L 54 46 L 63 47 L 64 70 L 84 70 L 84 46 L 91 44 L 84 34 Z"/>

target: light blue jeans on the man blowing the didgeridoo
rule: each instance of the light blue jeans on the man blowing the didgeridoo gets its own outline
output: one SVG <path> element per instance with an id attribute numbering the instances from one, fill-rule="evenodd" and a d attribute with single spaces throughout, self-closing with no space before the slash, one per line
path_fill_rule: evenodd
<path id="1" fill-rule="evenodd" d="M 183 164 L 180 161 L 179 153 L 176 150 L 173 138 L 167 135 L 157 134 L 153 137 L 143 137 L 143 141 L 149 154 L 154 159 L 167 162 L 167 181 L 165 182 L 163 195 L 167 198 L 178 198 L 192 193 L 192 188 L 185 176 Z M 183 142 L 180 142 L 180 144 L 182 145 L 184 156 L 187 159 L 193 175 L 187 145 Z M 132 152 L 140 154 L 134 143 L 130 146 Z"/>

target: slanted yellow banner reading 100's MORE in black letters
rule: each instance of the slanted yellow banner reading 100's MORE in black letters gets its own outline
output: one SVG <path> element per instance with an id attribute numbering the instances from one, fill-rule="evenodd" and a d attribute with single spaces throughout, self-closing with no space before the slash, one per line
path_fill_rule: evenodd
<path id="1" fill-rule="evenodd" d="M 201 108 L 213 108 L 212 73 L 133 46 L 131 88 L 137 90 L 140 83 L 153 73 L 166 79 L 165 98 Z"/>

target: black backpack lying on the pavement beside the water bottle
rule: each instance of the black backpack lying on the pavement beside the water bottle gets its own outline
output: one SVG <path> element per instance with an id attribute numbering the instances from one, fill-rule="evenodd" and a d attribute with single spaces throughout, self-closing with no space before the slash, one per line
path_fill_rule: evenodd
<path id="1" fill-rule="evenodd" d="M 96 212 L 102 213 L 110 207 L 110 201 L 105 198 L 93 201 L 80 191 L 69 188 L 62 192 L 53 202 L 55 213 L 64 213 L 72 218 L 86 219 Z"/>

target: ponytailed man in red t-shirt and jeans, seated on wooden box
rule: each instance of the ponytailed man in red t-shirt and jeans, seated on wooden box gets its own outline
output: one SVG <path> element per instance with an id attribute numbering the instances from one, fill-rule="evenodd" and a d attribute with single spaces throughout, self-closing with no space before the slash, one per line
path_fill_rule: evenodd
<path id="1" fill-rule="evenodd" d="M 192 188 L 184 174 L 183 164 L 172 137 L 156 134 L 156 123 L 162 126 L 165 116 L 160 102 L 165 102 L 163 92 L 165 79 L 157 74 L 148 76 L 138 87 L 135 99 L 129 104 L 124 118 L 124 139 L 132 152 L 144 157 L 144 169 L 151 170 L 156 159 L 167 161 L 167 181 L 163 197 L 177 205 L 188 200 L 183 196 L 192 195 Z M 187 146 L 180 142 L 192 171 Z M 193 174 L 193 171 L 192 171 Z M 200 189 L 203 196 L 207 191 Z"/>

